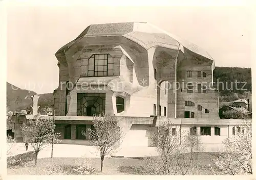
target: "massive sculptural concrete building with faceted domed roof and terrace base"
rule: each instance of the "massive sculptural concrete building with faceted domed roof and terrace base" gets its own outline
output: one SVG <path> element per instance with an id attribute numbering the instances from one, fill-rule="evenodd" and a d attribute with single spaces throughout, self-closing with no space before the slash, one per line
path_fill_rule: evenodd
<path id="1" fill-rule="evenodd" d="M 62 143 L 88 144 L 81 130 L 88 132 L 92 116 L 102 112 L 117 116 L 123 146 L 150 146 L 154 128 L 171 119 L 174 132 L 196 128 L 204 150 L 216 151 L 242 124 L 219 118 L 210 55 L 146 22 L 90 25 L 55 56 L 54 111 Z"/>

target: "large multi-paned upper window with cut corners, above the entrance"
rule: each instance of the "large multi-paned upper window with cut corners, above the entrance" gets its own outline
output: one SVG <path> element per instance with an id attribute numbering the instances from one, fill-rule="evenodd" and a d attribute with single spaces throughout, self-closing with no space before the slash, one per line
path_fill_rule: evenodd
<path id="1" fill-rule="evenodd" d="M 114 60 L 109 54 L 92 55 L 88 59 L 88 76 L 113 76 Z"/>

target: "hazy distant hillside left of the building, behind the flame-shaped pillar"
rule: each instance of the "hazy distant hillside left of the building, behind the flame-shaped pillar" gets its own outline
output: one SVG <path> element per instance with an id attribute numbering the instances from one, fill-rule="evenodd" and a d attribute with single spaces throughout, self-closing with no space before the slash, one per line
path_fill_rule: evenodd
<path id="1" fill-rule="evenodd" d="M 32 106 L 32 95 L 36 93 L 26 89 L 20 89 L 6 82 L 6 97 L 7 97 L 7 112 L 28 110 Z M 40 96 L 38 106 L 47 107 L 53 106 L 53 93 L 37 94 Z"/>

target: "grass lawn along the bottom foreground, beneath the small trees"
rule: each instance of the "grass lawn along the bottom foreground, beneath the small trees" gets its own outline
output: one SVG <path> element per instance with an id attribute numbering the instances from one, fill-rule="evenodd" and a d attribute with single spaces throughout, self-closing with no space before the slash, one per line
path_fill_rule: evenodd
<path id="1" fill-rule="evenodd" d="M 193 170 L 194 175 L 212 174 L 208 164 L 213 164 L 216 153 L 201 152 L 198 155 L 198 168 Z M 100 170 L 99 158 L 43 158 L 38 159 L 37 166 L 34 161 L 24 163 L 7 169 L 8 175 L 76 175 L 72 167 L 79 166 L 81 162 L 92 164 L 100 175 L 145 175 L 143 173 L 143 161 L 140 158 L 105 158 L 103 172 Z M 189 175 L 192 175 L 189 174 Z"/>

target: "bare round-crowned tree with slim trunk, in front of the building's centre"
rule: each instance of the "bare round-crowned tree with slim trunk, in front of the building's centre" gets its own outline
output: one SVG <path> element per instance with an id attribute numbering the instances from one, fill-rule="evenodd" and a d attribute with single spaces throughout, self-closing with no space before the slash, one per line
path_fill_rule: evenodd
<path id="1" fill-rule="evenodd" d="M 90 130 L 90 140 L 100 151 L 100 172 L 102 172 L 104 157 L 114 152 L 118 143 L 120 145 L 123 132 L 116 117 L 105 114 L 93 117 L 93 127 Z M 82 135 L 86 136 L 86 133 L 82 131 Z"/>

